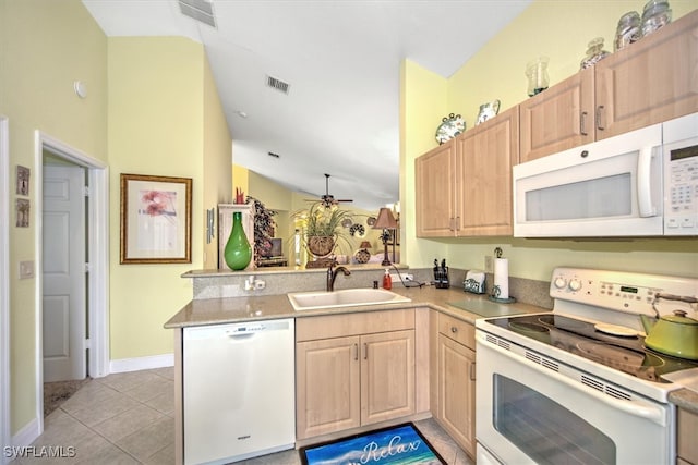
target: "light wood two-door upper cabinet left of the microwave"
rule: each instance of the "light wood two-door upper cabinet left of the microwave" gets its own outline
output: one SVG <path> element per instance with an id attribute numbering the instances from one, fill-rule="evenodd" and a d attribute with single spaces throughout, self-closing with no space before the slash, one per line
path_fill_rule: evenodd
<path id="1" fill-rule="evenodd" d="M 512 108 L 416 160 L 418 237 L 513 233 L 518 114 Z"/>

